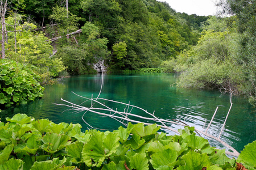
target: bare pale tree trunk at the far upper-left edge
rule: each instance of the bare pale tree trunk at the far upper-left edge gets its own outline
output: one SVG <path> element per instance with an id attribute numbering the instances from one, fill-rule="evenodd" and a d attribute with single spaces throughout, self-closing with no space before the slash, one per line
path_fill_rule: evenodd
<path id="1" fill-rule="evenodd" d="M 1 40 L 1 57 L 5 58 L 5 41 L 6 41 L 6 23 L 5 23 L 5 14 L 7 11 L 7 5 L 8 2 L 7 0 L 1 0 L 0 1 L 0 16 L 1 16 L 1 24 L 2 24 L 2 29 L 1 29 L 1 33 L 2 33 L 2 40 Z"/>

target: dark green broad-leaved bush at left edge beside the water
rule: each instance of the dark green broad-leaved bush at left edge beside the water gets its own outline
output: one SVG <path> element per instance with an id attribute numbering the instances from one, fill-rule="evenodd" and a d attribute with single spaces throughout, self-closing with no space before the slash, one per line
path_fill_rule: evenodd
<path id="1" fill-rule="evenodd" d="M 40 86 L 40 76 L 30 67 L 11 61 L 0 60 L 0 104 L 10 107 L 25 104 L 36 97 L 42 97 L 44 87 Z"/>

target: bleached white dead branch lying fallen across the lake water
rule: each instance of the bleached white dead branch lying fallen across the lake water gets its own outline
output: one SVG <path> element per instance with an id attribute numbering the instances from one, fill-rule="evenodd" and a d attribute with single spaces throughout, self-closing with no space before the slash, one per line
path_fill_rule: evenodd
<path id="1" fill-rule="evenodd" d="M 103 81 L 103 76 L 102 76 L 102 81 Z M 102 90 L 102 85 L 101 85 L 101 90 Z M 100 92 L 101 92 L 101 90 L 100 90 Z M 75 93 L 73 92 L 73 94 L 75 94 Z M 75 94 L 75 95 L 77 95 L 77 94 Z M 89 125 L 90 128 L 93 128 L 93 126 L 91 126 L 88 122 L 86 122 L 86 120 L 84 118 L 85 114 L 88 112 L 95 113 L 96 116 L 98 116 L 98 117 L 113 118 L 114 120 L 120 122 L 122 125 L 125 125 L 125 126 L 128 125 L 128 122 L 134 122 L 134 123 L 142 122 L 145 125 L 151 125 L 151 124 L 156 123 L 156 125 L 160 126 L 161 129 L 171 130 L 177 134 L 179 134 L 179 132 L 175 129 L 170 128 L 170 124 L 175 124 L 175 125 L 179 125 L 179 126 L 187 126 L 187 124 L 185 122 L 181 122 L 178 120 L 171 121 L 171 120 L 165 120 L 163 118 L 158 118 L 155 116 L 155 112 L 153 112 L 153 113 L 147 112 L 143 108 L 137 107 L 136 105 L 131 105 L 130 102 L 127 104 L 127 103 L 122 103 L 119 101 L 99 98 L 100 94 L 97 96 L 97 98 L 93 98 L 93 95 L 91 98 L 80 96 L 80 95 L 77 95 L 77 96 L 85 99 L 85 101 L 81 104 L 75 104 L 75 103 L 71 103 L 67 100 L 61 99 L 62 101 L 64 101 L 67 104 L 56 104 L 56 105 L 62 105 L 62 106 L 68 107 L 69 109 L 67 109 L 66 111 L 74 111 L 75 113 L 84 112 L 84 114 L 82 115 L 82 120 L 87 125 Z M 110 108 L 108 105 L 105 104 L 105 102 L 118 104 L 119 106 L 122 106 L 122 107 L 118 107 L 118 108 L 122 108 L 123 110 L 118 111 L 117 108 L 116 109 Z M 230 103 L 232 103 L 231 97 L 230 97 Z M 87 107 L 83 106 L 85 104 L 88 104 L 88 106 Z M 98 107 L 94 107 L 94 105 L 97 105 Z M 109 105 L 112 105 L 112 104 L 109 104 Z M 230 106 L 230 109 L 231 109 L 231 107 L 232 107 L 232 105 Z M 148 116 L 146 117 L 146 116 L 141 116 L 141 115 L 132 113 L 132 111 L 134 111 L 135 109 L 136 109 L 136 111 L 141 111 L 143 113 L 146 113 Z M 216 109 L 215 113 L 213 114 L 210 124 L 213 121 L 213 118 L 217 112 L 217 109 Z M 230 111 L 230 109 L 229 109 L 229 111 Z M 226 118 L 227 117 L 228 117 L 228 115 L 226 116 Z M 138 120 L 140 120 L 140 121 L 138 121 Z M 150 123 L 148 121 L 150 121 L 152 123 Z M 226 122 L 226 120 L 225 120 L 225 122 Z M 224 122 L 224 126 L 225 126 L 225 122 Z M 209 129 L 210 124 L 208 125 L 207 130 Z M 222 130 L 224 129 L 224 126 L 222 127 Z M 93 129 L 98 129 L 98 128 L 93 128 Z M 237 150 L 235 150 L 232 146 L 229 146 L 224 141 L 221 141 L 220 137 L 217 138 L 217 137 L 214 137 L 213 135 L 208 134 L 207 130 L 201 131 L 199 129 L 195 129 L 197 134 L 205 135 L 206 137 L 212 138 L 212 139 L 220 142 L 223 146 L 228 148 L 228 150 L 232 151 L 232 152 L 226 151 L 227 155 L 236 156 L 236 157 L 238 157 L 240 155 L 240 153 Z M 222 130 L 221 130 L 221 133 L 222 133 Z M 220 135 L 221 135 L 221 133 L 220 133 Z"/>

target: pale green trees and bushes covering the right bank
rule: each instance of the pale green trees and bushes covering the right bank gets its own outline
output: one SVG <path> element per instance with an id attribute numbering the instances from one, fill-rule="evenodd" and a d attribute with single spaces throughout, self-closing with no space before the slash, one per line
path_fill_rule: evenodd
<path id="1" fill-rule="evenodd" d="M 255 105 L 255 20 L 249 19 L 255 4 L 247 3 L 228 1 L 229 12 L 237 15 L 210 17 L 198 44 L 177 56 L 177 65 L 169 68 L 182 73 L 179 86 L 245 94 Z"/>

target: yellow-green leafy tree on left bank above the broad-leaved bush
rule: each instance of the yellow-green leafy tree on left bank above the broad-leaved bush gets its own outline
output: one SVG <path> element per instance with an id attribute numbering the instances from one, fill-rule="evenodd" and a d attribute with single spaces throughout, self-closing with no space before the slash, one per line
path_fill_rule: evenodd
<path id="1" fill-rule="evenodd" d="M 22 21 L 21 16 L 16 22 L 18 21 Z M 12 17 L 8 17 L 6 22 L 13 25 L 15 20 Z M 36 73 L 43 78 L 42 82 L 46 83 L 52 76 L 58 76 L 61 71 L 65 70 L 65 67 L 61 59 L 54 56 L 51 57 L 53 50 L 51 41 L 42 32 L 32 32 L 31 29 L 35 28 L 36 25 L 25 22 L 16 27 L 15 30 L 20 31 L 19 33 L 9 33 L 6 58 L 36 66 Z M 13 27 L 8 29 L 14 31 Z"/>

